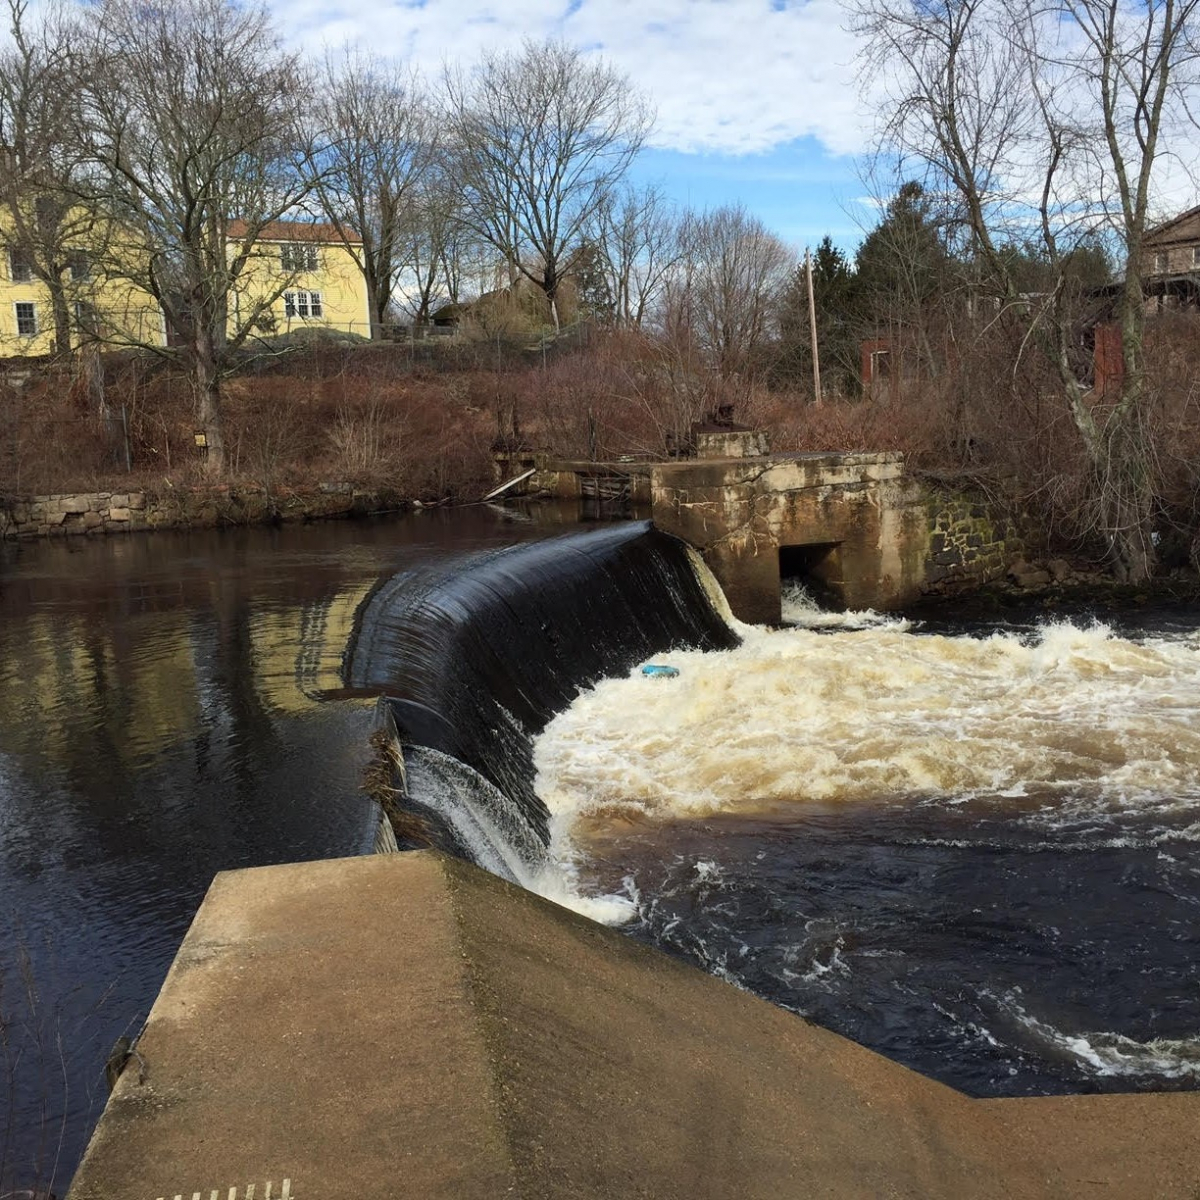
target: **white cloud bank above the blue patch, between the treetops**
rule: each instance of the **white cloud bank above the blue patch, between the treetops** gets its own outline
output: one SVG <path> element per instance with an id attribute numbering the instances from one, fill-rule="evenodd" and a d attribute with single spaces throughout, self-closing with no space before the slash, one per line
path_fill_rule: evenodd
<path id="1" fill-rule="evenodd" d="M 299 0 L 275 13 L 311 49 L 358 42 L 432 76 L 485 48 L 562 36 L 649 97 L 660 149 L 756 154 L 812 136 L 854 154 L 865 140 L 838 0 Z"/>

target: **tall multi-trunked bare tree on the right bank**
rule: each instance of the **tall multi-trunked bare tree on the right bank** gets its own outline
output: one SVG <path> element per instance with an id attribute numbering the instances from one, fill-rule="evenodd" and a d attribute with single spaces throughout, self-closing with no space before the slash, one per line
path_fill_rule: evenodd
<path id="1" fill-rule="evenodd" d="M 1198 0 L 862 0 L 865 65 L 890 79 L 881 142 L 925 163 L 961 206 L 998 298 L 1027 313 L 1054 361 L 1093 476 L 1093 522 L 1118 574 L 1154 566 L 1153 454 L 1146 443 L 1142 256 L 1156 172 L 1189 157 Z M 1182 136 L 1181 136 L 1182 134 Z M 1164 143 L 1164 137 L 1170 144 Z M 1056 276 L 1022 296 L 1002 233 L 1036 229 Z M 1098 229 L 1121 251 L 1124 373 L 1097 404 L 1072 353 L 1072 257 Z"/>

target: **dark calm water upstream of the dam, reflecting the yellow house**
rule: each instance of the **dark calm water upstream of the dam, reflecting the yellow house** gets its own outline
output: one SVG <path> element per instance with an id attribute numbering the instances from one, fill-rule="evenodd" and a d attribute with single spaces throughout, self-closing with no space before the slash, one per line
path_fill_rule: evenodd
<path id="1" fill-rule="evenodd" d="M 362 598 L 544 516 L 0 546 L 0 1190 L 62 1194 L 215 872 L 370 845 Z"/>

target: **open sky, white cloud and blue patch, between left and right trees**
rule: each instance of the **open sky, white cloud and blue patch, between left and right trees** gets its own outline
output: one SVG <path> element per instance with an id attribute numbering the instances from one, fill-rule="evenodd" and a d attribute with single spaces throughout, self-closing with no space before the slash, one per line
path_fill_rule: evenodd
<path id="1" fill-rule="evenodd" d="M 563 37 L 656 110 L 640 180 L 696 208 L 742 202 L 797 248 L 872 223 L 857 156 L 869 121 L 840 0 L 271 0 L 288 38 L 350 42 L 436 77 L 484 48 Z"/>

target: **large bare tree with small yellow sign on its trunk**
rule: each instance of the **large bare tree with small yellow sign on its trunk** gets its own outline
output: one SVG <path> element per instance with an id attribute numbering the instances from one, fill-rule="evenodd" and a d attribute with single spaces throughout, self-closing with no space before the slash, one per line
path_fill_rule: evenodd
<path id="1" fill-rule="evenodd" d="M 107 271 L 161 308 L 168 344 L 145 328 L 131 341 L 186 367 L 218 475 L 222 379 L 292 282 L 260 270 L 260 241 L 314 185 L 305 73 L 265 11 L 232 0 L 103 0 L 90 59 L 89 199 L 119 232 Z"/>

